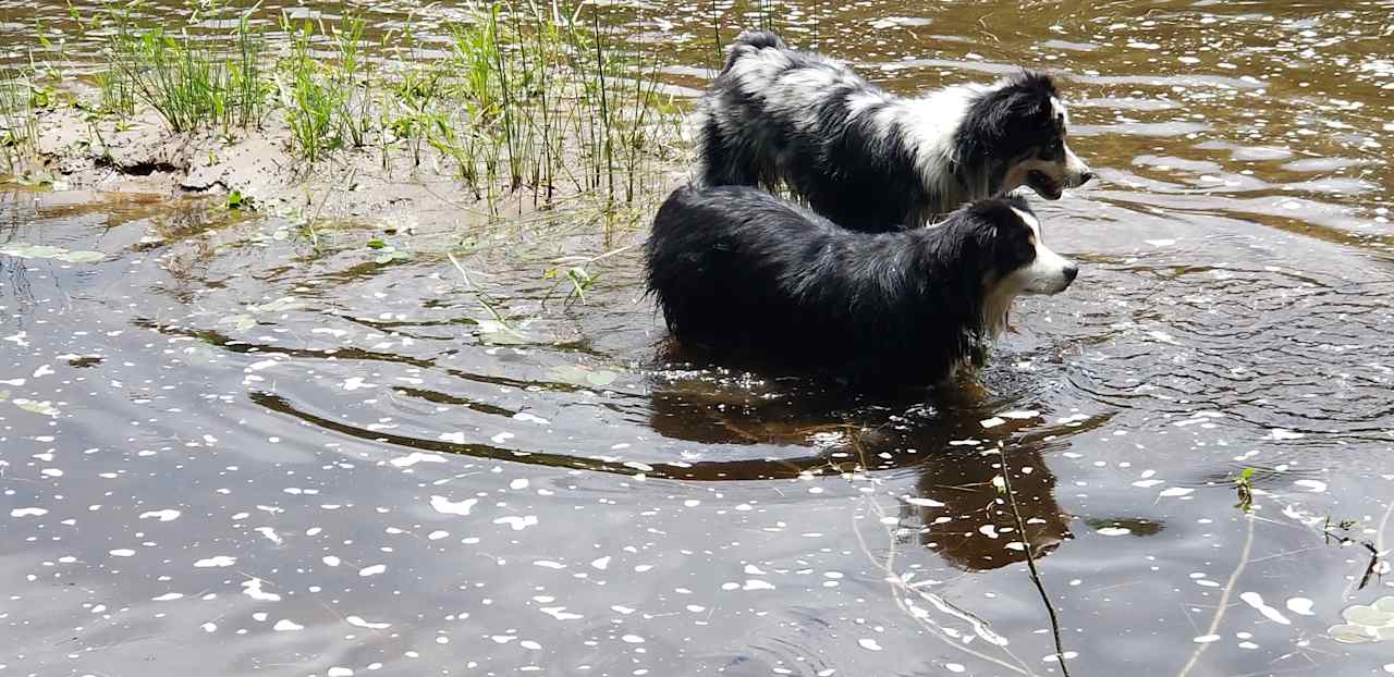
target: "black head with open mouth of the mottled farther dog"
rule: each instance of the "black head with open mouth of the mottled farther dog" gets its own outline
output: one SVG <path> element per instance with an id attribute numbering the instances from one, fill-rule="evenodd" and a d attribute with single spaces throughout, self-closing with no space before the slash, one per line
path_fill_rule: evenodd
<path id="1" fill-rule="evenodd" d="M 988 155 L 998 192 L 1030 187 L 1046 199 L 1079 188 L 1094 173 L 1069 149 L 1069 110 L 1050 75 L 1023 71 L 987 91 L 963 121 L 962 141 Z"/>

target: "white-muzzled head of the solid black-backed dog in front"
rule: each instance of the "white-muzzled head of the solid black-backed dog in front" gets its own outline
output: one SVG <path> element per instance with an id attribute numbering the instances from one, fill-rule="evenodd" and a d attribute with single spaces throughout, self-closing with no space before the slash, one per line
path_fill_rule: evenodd
<path id="1" fill-rule="evenodd" d="M 983 322 L 990 334 L 1005 327 L 1013 298 L 1059 294 L 1079 276 L 1079 266 L 1046 247 L 1040 220 L 1025 199 L 979 201 L 969 209 L 979 221 L 979 247 L 990 252 L 983 270 Z"/>

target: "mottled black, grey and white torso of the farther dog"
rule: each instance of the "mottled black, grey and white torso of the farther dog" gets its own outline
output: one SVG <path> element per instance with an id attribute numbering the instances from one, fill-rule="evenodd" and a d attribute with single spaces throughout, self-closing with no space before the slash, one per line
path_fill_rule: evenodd
<path id="1" fill-rule="evenodd" d="M 742 33 L 697 104 L 697 180 L 789 188 L 843 227 L 901 230 L 944 201 L 927 192 L 920 150 L 887 135 L 894 100 L 839 60 Z"/>

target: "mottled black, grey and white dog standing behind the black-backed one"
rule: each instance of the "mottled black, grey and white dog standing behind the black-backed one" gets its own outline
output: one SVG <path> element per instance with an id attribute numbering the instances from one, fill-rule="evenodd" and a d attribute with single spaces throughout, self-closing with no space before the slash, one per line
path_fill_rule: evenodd
<path id="1" fill-rule="evenodd" d="M 923 226 L 1022 185 L 1059 199 L 1093 178 L 1048 75 L 907 99 L 769 32 L 736 38 L 693 125 L 698 182 L 786 187 L 853 230 Z"/>

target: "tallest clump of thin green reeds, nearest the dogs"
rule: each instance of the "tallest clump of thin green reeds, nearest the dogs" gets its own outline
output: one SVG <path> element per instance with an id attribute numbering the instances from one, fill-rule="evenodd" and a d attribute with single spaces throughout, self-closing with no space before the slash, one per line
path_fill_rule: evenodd
<path id="1" fill-rule="evenodd" d="M 551 11 L 548 11 L 551 10 Z M 583 11 L 591 11 L 583 15 Z M 475 176 L 551 199 L 556 181 L 612 201 L 633 201 L 651 143 L 669 116 L 658 96 L 657 59 L 620 52 L 599 8 L 506 1 L 456 26 L 449 95 L 467 114 L 456 139 L 498 156 Z M 579 170 L 579 171 L 577 171 Z"/>

